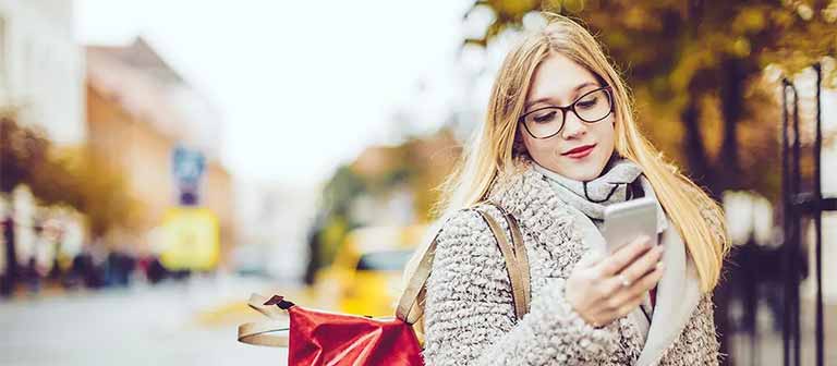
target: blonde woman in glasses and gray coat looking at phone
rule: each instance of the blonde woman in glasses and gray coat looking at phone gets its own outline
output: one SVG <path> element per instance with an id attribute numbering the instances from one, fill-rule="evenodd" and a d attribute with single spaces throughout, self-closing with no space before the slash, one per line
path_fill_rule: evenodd
<path id="1" fill-rule="evenodd" d="M 640 133 L 593 36 L 555 14 L 507 56 L 487 118 L 445 185 L 424 298 L 428 365 L 715 365 L 712 290 L 728 240 L 717 204 Z M 606 206 L 657 205 L 657 245 L 606 255 Z M 519 222 L 531 306 L 474 205 Z M 410 270 L 408 270 L 408 274 Z M 421 326 L 420 326 L 421 327 Z"/>

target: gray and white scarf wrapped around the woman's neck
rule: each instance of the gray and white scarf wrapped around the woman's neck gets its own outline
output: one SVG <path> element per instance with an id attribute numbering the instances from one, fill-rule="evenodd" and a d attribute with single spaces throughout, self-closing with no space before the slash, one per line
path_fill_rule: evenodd
<path id="1" fill-rule="evenodd" d="M 657 203 L 657 232 L 667 227 L 666 213 L 651 182 L 642 173 L 642 167 L 618 154 L 611 155 L 598 178 L 586 182 L 569 179 L 534 161 L 533 164 L 558 197 L 586 215 L 599 231 L 604 225 L 605 207 L 646 195 Z"/>

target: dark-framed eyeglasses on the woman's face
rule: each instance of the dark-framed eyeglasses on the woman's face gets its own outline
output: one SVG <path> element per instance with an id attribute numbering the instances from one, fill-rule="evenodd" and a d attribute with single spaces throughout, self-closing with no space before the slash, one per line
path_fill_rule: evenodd
<path id="1" fill-rule="evenodd" d="M 614 111 L 614 98 L 610 93 L 609 85 L 603 86 L 585 93 L 567 107 L 550 106 L 529 111 L 521 115 L 518 122 L 523 123 L 532 137 L 549 138 L 561 132 L 568 111 L 572 111 L 587 123 L 604 120 Z"/>

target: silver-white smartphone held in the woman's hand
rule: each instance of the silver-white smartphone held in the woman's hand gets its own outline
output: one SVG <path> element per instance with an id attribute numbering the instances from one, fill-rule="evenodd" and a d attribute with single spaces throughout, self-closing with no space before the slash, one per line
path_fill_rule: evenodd
<path id="1" fill-rule="evenodd" d="M 642 197 L 608 205 L 602 231 L 609 254 L 641 235 L 651 237 L 652 246 L 657 245 L 657 204 L 651 197 Z"/>

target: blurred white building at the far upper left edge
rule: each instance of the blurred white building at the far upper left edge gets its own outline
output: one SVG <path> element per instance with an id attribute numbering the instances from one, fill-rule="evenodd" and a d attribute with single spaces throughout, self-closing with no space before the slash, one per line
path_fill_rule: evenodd
<path id="1" fill-rule="evenodd" d="M 84 142 L 84 54 L 72 1 L 0 0 L 0 105 L 59 145 Z"/>

